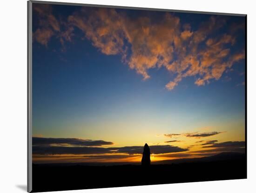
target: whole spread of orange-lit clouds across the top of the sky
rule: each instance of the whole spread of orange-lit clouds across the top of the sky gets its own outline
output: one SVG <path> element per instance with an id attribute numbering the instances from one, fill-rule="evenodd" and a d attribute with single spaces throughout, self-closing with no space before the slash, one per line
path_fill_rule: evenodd
<path id="1" fill-rule="evenodd" d="M 64 44 L 71 41 L 74 28 L 79 29 L 103 54 L 121 55 L 122 62 L 143 80 L 150 78 L 150 69 L 165 68 L 173 75 L 165 85 L 167 90 L 173 90 L 186 77 L 195 77 L 197 86 L 219 80 L 245 58 L 244 47 L 233 49 L 237 33 L 217 33 L 227 25 L 227 17 L 211 16 L 199 27 L 191 28 L 189 24 L 182 26 L 181 19 L 171 13 L 161 13 L 156 21 L 148 14 L 143 16 L 146 11 L 129 17 L 121 9 L 82 7 L 60 23 L 49 7 L 34 9 L 40 18 L 34 39 L 40 44 L 47 45 L 53 36 Z M 236 25 L 233 28 L 239 29 L 241 24 Z M 64 33 L 60 32 L 63 26 Z"/>

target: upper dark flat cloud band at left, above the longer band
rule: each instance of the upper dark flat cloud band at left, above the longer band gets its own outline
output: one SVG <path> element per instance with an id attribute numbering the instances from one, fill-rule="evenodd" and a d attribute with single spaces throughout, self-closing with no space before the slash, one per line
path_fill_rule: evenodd
<path id="1" fill-rule="evenodd" d="M 102 146 L 102 145 L 113 145 L 113 142 L 105 142 L 103 140 L 83 140 L 77 138 L 44 138 L 44 137 L 33 137 L 32 144 L 38 145 L 72 145 L 72 146 Z"/>

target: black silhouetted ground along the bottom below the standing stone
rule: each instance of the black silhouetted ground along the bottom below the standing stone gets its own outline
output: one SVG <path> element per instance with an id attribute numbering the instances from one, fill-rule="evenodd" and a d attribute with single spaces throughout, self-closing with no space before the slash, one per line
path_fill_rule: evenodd
<path id="1" fill-rule="evenodd" d="M 33 191 L 47 192 L 246 178 L 244 154 L 140 165 L 33 164 Z"/>

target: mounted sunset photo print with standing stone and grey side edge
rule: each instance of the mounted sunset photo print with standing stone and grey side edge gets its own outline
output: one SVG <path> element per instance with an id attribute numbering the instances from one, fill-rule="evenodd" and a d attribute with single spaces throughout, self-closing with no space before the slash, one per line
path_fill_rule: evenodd
<path id="1" fill-rule="evenodd" d="M 28 192 L 247 178 L 246 19 L 28 1 Z"/>

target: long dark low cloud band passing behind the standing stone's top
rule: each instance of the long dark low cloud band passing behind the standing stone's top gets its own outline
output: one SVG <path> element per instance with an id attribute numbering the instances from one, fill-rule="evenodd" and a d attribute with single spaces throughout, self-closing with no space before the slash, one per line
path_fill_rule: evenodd
<path id="1" fill-rule="evenodd" d="M 125 153 L 142 154 L 143 146 L 127 146 L 115 148 L 101 147 L 65 147 L 65 146 L 33 146 L 33 154 L 106 154 L 106 153 Z M 179 148 L 171 145 L 150 146 L 151 154 L 166 154 L 188 151 L 185 148 Z"/>

